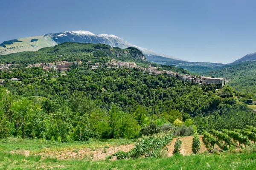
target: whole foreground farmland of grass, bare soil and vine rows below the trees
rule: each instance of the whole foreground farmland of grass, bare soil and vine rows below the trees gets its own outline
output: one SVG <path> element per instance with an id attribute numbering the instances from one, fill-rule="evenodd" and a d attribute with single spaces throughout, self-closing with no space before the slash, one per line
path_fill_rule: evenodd
<path id="1" fill-rule="evenodd" d="M 242 130 L 223 129 L 221 131 L 212 129 L 208 132 L 204 131 L 203 134 L 195 132 L 193 136 L 175 136 L 172 132 L 169 132 L 144 137 L 137 141 L 115 139 L 104 142 L 96 140 L 82 145 L 73 144 L 73 146 L 68 143 L 54 142 L 56 147 L 52 148 L 47 148 L 49 146 L 47 141 L 38 143 L 38 140 L 18 139 L 24 140 L 24 142 L 23 145 L 17 145 L 17 141 L 8 139 L 5 142 L 6 149 L 0 150 L 2 155 L 0 160 L 17 168 L 22 164 L 24 169 L 30 169 L 31 164 L 37 165 L 41 169 L 54 169 L 54 167 L 60 166 L 63 166 L 64 169 L 70 166 L 84 169 L 85 164 L 86 166 L 93 165 L 94 168 L 92 169 L 106 169 L 104 166 L 113 169 L 113 164 L 120 164 L 118 169 L 127 170 L 135 168 L 129 164 L 137 164 L 137 169 L 170 169 L 170 166 L 173 166 L 173 169 L 181 169 L 181 167 L 189 169 L 193 162 L 195 163 L 194 166 L 201 167 L 205 167 L 206 164 L 216 167 L 218 162 L 218 166 L 221 164 L 226 169 L 232 169 L 234 165 L 232 162 L 236 160 L 236 162 L 246 163 L 249 166 L 247 169 L 253 169 L 251 167 L 256 166 L 256 159 L 251 159 L 256 156 L 255 130 L 254 127 L 247 127 Z M 22 141 L 19 141 L 19 143 L 22 143 Z M 218 154 L 215 155 L 216 152 Z M 191 154 L 193 156 L 190 156 Z M 220 159 L 216 159 L 216 156 Z M 12 162 L 12 159 L 15 159 L 15 161 Z M 119 161 L 108 161 L 116 159 L 119 159 Z M 195 161 L 197 159 L 201 160 L 200 164 Z M 203 160 L 204 163 L 202 163 Z M 28 161 L 27 164 L 23 164 L 24 161 Z M 159 165 L 160 167 L 152 168 L 147 166 L 151 161 L 155 161 L 156 164 L 159 163 L 158 161 L 165 161 L 165 163 Z M 145 162 L 147 163 L 145 164 Z M 170 164 L 170 162 L 179 163 Z M 190 164 L 184 164 L 185 162 Z M 101 165 L 99 166 L 99 164 Z M 165 164 L 168 167 L 161 167 Z M 240 166 L 240 164 L 236 164 L 236 166 Z M 1 167 L 3 165 L 0 163 L 0 169 Z"/>

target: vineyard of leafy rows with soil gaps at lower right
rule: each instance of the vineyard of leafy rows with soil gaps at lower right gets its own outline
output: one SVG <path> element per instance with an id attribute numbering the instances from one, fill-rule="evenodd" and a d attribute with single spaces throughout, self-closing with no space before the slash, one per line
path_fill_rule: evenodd
<path id="1" fill-rule="evenodd" d="M 200 137 L 202 138 L 202 141 L 200 140 Z M 190 140 L 189 142 L 186 141 L 186 143 L 183 144 L 183 141 L 188 138 L 192 140 Z M 159 154 L 160 150 L 165 150 L 168 153 L 171 152 L 172 154 L 169 154 L 169 156 L 172 156 L 173 154 L 187 155 L 186 152 L 190 153 L 188 152 L 188 150 L 192 150 L 192 153 L 198 154 L 202 153 L 202 150 L 201 152 L 199 152 L 201 147 L 206 147 L 209 152 L 211 150 L 222 151 L 229 150 L 230 148 L 243 148 L 246 146 L 250 146 L 252 144 L 255 144 L 255 141 L 256 128 L 251 126 L 248 126 L 246 129 L 243 130 L 222 129 L 221 131 L 218 131 L 212 129 L 209 132 L 205 130 L 203 132 L 203 136 L 199 136 L 198 133 L 195 132 L 194 136 L 181 137 L 181 139 L 180 137 L 173 138 L 173 133 L 170 133 L 166 136 L 162 136 L 161 138 L 150 137 L 141 139 L 130 151 L 118 151 L 115 154 L 108 156 L 106 159 L 112 159 L 113 156 L 116 156 L 116 159 L 136 159 L 142 156 L 157 157 L 157 154 Z M 169 146 L 171 145 L 171 148 L 166 147 L 167 144 L 169 144 Z M 184 152 L 184 148 L 182 149 L 182 144 L 189 145 L 189 148 L 186 148 L 186 152 Z M 205 152 L 206 150 L 203 151 Z"/>

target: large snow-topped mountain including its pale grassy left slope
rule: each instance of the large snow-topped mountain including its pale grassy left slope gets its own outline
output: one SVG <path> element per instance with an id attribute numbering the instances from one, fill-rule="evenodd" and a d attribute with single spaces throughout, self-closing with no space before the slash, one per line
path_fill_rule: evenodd
<path id="1" fill-rule="evenodd" d="M 38 39 L 38 41 L 31 42 L 33 39 Z M 0 45 L 0 55 L 17 53 L 20 51 L 37 51 L 43 47 L 54 46 L 61 44 L 62 42 L 82 42 L 82 43 L 93 43 L 93 44 L 106 44 L 111 47 L 128 48 L 134 47 L 143 52 L 143 54 L 148 56 L 162 56 L 166 58 L 171 58 L 175 60 L 182 60 L 177 57 L 172 57 L 164 54 L 157 54 L 147 48 L 139 47 L 133 45 L 120 37 L 108 34 L 93 34 L 89 31 L 64 31 L 60 33 L 51 33 L 44 36 L 38 37 L 27 37 L 18 39 L 22 42 L 14 42 L 13 44 Z"/>

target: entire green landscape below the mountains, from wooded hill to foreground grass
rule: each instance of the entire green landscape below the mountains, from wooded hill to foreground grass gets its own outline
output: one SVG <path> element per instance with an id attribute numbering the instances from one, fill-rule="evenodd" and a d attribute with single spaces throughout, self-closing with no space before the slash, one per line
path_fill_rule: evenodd
<path id="1" fill-rule="evenodd" d="M 216 78 L 151 63 L 137 48 L 91 43 L 63 42 L 3 55 L 0 62 L 0 168 L 159 169 L 176 161 L 168 167 L 239 169 L 256 164 L 244 164 L 255 156 L 256 127 L 253 105 L 244 101 L 255 98 L 212 82 Z M 243 62 L 212 75 L 252 77 L 253 66 Z M 149 167 L 148 160 L 163 164 Z"/>

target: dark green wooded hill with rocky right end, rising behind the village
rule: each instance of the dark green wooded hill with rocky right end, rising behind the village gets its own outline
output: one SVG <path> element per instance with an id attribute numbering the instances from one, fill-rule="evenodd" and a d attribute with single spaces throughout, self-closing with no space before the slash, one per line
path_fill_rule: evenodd
<path id="1" fill-rule="evenodd" d="M 41 48 L 38 51 L 27 51 L 0 56 L 2 63 L 38 63 L 55 62 L 56 60 L 82 61 L 102 59 L 102 61 L 119 59 L 120 61 L 146 62 L 145 56 L 137 48 L 112 48 L 104 44 L 85 44 L 64 42 L 53 47 Z"/>

